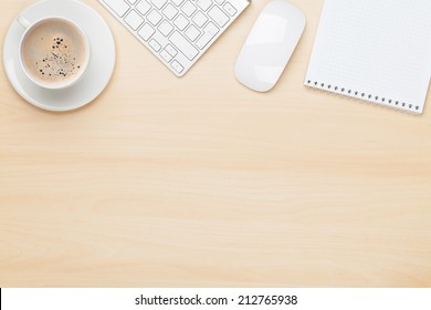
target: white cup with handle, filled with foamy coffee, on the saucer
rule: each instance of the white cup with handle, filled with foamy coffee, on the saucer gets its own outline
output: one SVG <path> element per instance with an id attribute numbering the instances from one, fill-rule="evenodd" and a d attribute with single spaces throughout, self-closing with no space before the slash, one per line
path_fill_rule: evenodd
<path id="1" fill-rule="evenodd" d="M 30 22 L 24 16 L 20 16 L 17 21 L 25 29 L 19 46 L 20 64 L 25 75 L 34 84 L 49 90 L 63 90 L 73 86 L 82 79 L 88 68 L 91 51 L 86 34 L 75 22 L 63 17 L 46 17 L 35 22 Z M 45 32 L 49 32 L 50 27 L 52 27 L 52 33 L 62 28 L 73 34 L 72 37 L 76 40 L 74 40 L 73 44 L 70 44 L 73 46 L 64 45 L 66 39 L 63 42 L 63 38 L 61 42 L 60 38 L 54 38 L 49 43 L 48 41 L 52 40 L 52 38 L 46 38 L 46 42 L 41 41 L 40 44 L 38 42 L 34 44 L 35 40 L 44 39 L 35 38 L 41 27 L 44 27 Z M 56 39 L 59 40 L 55 41 Z M 50 44 L 52 44 L 52 48 L 48 48 Z M 39 45 L 42 45 L 42 48 L 38 49 Z M 72 51 L 67 51 L 72 48 Z M 77 51 L 80 51 L 78 63 L 76 61 Z M 34 54 L 34 60 L 29 54 Z M 46 56 L 44 56 L 45 54 Z"/>

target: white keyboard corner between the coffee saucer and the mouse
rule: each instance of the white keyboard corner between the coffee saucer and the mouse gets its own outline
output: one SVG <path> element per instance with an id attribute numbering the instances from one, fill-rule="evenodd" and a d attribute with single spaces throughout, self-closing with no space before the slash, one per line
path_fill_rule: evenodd
<path id="1" fill-rule="evenodd" d="M 99 0 L 177 76 L 182 76 L 251 0 Z"/>

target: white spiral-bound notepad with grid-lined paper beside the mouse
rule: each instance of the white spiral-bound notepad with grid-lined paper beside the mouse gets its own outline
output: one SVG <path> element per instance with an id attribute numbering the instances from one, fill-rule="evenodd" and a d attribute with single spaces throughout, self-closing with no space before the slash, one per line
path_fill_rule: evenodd
<path id="1" fill-rule="evenodd" d="M 305 85 L 422 113 L 431 0 L 325 0 Z"/>

